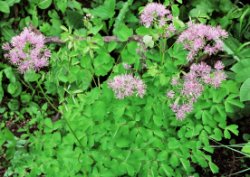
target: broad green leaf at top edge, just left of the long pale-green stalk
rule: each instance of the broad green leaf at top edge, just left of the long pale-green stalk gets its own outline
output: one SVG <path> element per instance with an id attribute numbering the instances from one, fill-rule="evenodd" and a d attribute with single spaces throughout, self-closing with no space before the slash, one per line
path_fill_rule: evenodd
<path id="1" fill-rule="evenodd" d="M 115 0 L 105 0 L 103 5 L 94 8 L 93 10 L 91 10 L 91 13 L 94 16 L 100 17 L 103 20 L 107 20 L 114 16 L 115 4 Z"/>

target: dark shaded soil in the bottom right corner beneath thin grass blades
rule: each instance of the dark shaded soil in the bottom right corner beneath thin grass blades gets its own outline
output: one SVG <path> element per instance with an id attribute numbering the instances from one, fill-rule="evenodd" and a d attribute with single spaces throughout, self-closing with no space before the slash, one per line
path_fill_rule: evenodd
<path id="1" fill-rule="evenodd" d="M 237 124 L 239 126 L 239 135 L 235 136 L 232 135 L 232 139 L 235 140 L 234 144 L 244 144 L 246 143 L 245 140 L 243 140 L 243 134 L 250 134 L 250 118 L 249 117 L 243 117 L 236 121 L 228 118 L 228 124 Z M 220 143 L 224 145 L 229 145 L 230 140 L 223 139 Z M 211 142 L 213 145 L 217 145 L 216 143 Z M 241 150 L 240 148 L 232 147 L 236 150 Z M 200 166 L 196 166 L 196 171 L 200 174 L 202 177 L 245 177 L 250 176 L 250 171 L 246 171 L 244 173 L 240 174 L 234 174 L 241 170 L 245 170 L 250 167 L 250 158 L 246 158 L 244 155 L 239 154 L 235 151 L 232 151 L 225 147 L 216 147 L 215 151 L 212 155 L 213 162 L 219 167 L 219 173 L 213 174 L 210 169 L 202 169 Z M 234 175 L 233 175 L 234 174 Z"/>

